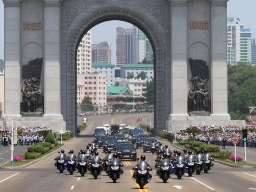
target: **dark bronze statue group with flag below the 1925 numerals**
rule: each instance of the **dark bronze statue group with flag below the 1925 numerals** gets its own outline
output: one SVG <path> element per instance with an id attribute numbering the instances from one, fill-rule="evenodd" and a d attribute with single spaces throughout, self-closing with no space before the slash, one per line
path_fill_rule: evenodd
<path id="1" fill-rule="evenodd" d="M 43 95 L 40 85 L 40 76 L 43 58 L 37 58 L 22 66 L 22 77 L 25 79 L 24 86 L 21 85 L 22 102 L 21 112 L 43 113 Z"/>

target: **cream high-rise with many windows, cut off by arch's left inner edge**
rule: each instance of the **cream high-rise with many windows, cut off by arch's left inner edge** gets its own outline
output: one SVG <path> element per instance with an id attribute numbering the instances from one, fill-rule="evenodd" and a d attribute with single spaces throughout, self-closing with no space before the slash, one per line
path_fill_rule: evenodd
<path id="1" fill-rule="evenodd" d="M 90 74 L 92 72 L 92 31 L 89 30 L 77 48 L 76 71 L 77 74 Z"/>

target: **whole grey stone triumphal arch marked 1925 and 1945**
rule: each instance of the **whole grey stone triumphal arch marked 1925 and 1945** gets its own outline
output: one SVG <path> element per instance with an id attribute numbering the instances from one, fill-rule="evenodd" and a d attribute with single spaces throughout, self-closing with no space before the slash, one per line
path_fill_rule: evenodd
<path id="1" fill-rule="evenodd" d="M 227 1 L 3 0 L 3 116 L 76 133 L 77 46 L 93 26 L 122 20 L 153 47 L 155 132 L 243 124 L 227 108 Z"/>

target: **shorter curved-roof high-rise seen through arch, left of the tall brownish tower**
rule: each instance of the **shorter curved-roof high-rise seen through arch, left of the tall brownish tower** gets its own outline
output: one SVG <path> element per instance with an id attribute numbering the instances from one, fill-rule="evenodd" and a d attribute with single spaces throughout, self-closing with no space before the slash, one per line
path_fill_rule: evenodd
<path id="1" fill-rule="evenodd" d="M 92 43 L 92 62 L 111 63 L 111 43 Z"/>

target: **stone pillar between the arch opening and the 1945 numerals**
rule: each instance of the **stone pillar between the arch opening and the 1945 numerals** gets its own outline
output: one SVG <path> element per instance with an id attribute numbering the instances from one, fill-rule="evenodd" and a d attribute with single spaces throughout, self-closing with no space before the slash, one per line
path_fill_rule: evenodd
<path id="1" fill-rule="evenodd" d="M 187 2 L 171 2 L 171 114 L 169 120 L 187 120 Z"/>

